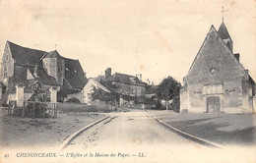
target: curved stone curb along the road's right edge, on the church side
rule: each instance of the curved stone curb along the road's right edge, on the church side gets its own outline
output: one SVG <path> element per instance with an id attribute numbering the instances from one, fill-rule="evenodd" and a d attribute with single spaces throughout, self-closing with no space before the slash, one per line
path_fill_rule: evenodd
<path id="1" fill-rule="evenodd" d="M 200 138 L 198 136 L 192 136 L 190 134 L 187 134 L 185 132 L 182 132 L 166 123 L 164 123 L 163 121 L 161 121 L 157 116 L 155 116 L 154 114 L 152 114 L 149 110 L 146 110 L 152 117 L 154 117 L 161 125 L 167 127 L 168 129 L 170 129 L 172 132 L 180 135 L 180 136 L 184 136 L 190 140 L 193 140 L 193 141 L 196 141 L 198 143 L 201 143 L 201 144 L 204 144 L 206 146 L 211 146 L 211 147 L 217 147 L 217 148 L 225 148 L 223 145 L 221 144 L 218 144 L 218 143 L 215 143 L 215 142 L 212 142 L 212 141 L 209 141 L 209 140 L 206 140 L 204 138 Z"/>

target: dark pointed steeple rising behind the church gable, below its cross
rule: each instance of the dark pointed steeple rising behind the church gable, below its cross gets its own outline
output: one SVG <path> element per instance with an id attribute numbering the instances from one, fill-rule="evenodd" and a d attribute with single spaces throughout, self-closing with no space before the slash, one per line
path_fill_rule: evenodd
<path id="1" fill-rule="evenodd" d="M 226 46 L 230 49 L 230 51 L 233 51 L 233 41 L 224 25 L 224 22 L 222 23 L 221 27 L 218 30 L 218 33 L 220 37 L 224 40 L 224 43 Z"/>

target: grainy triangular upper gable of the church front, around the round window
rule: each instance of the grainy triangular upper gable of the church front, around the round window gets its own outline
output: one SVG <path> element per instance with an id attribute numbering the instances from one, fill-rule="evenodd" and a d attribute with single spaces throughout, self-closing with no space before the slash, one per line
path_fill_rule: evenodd
<path id="1" fill-rule="evenodd" d="M 211 73 L 211 69 L 216 73 Z M 192 63 L 185 81 L 212 83 L 234 80 L 244 68 L 212 26 Z"/>

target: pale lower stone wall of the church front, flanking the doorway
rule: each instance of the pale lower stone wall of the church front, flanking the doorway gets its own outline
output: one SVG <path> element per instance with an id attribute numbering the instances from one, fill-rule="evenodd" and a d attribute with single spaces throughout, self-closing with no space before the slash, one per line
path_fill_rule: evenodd
<path id="1" fill-rule="evenodd" d="M 242 84 L 243 83 L 243 84 Z M 221 99 L 221 112 L 246 113 L 253 112 L 253 97 L 251 87 L 246 81 L 224 81 L 223 93 L 210 95 L 203 94 L 203 84 L 188 84 L 181 89 L 181 110 L 189 112 L 207 112 L 207 97 L 219 96 Z"/>

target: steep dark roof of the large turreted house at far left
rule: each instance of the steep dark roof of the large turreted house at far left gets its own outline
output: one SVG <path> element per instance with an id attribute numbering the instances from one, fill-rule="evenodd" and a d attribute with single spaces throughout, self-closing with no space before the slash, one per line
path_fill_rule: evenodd
<path id="1" fill-rule="evenodd" d="M 38 66 L 38 76 L 34 77 L 36 81 L 44 84 L 56 85 L 56 80 L 46 74 L 42 66 L 43 58 L 61 58 L 65 61 L 65 79 L 63 88 L 82 89 L 88 79 L 85 77 L 83 68 L 79 60 L 73 60 L 62 57 L 56 50 L 45 52 L 41 50 L 30 49 L 7 41 L 10 47 L 12 57 L 15 59 L 15 80 L 27 80 L 27 70 L 29 69 L 33 76 L 34 66 Z"/>

